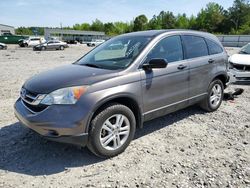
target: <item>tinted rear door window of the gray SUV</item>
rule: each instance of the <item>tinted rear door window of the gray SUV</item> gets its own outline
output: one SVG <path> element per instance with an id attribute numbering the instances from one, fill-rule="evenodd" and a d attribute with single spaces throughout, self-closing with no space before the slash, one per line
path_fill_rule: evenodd
<path id="1" fill-rule="evenodd" d="M 208 55 L 207 44 L 202 37 L 183 36 L 187 59 Z"/>

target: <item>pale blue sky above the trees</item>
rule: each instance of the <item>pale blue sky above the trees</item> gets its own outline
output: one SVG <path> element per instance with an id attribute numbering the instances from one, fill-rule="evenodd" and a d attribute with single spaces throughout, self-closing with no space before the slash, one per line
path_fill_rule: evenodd
<path id="1" fill-rule="evenodd" d="M 0 24 L 66 27 L 95 19 L 126 22 L 140 14 L 150 19 L 162 10 L 190 16 L 209 2 L 226 9 L 233 4 L 233 0 L 0 0 Z"/>

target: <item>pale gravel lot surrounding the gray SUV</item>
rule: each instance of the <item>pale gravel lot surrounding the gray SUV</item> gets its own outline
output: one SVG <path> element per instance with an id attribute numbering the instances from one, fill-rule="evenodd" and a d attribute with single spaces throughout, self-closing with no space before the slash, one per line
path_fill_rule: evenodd
<path id="1" fill-rule="evenodd" d="M 88 50 L 0 51 L 0 187 L 250 187 L 250 85 L 230 86 L 245 92 L 215 113 L 194 106 L 145 123 L 108 160 L 21 126 L 13 104 L 23 82 Z"/>

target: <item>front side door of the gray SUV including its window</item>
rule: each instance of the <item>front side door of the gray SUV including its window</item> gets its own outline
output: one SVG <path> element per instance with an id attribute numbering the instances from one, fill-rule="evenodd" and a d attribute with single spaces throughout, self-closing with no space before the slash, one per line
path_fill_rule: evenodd
<path id="1" fill-rule="evenodd" d="M 147 55 L 166 59 L 166 68 L 141 69 L 144 118 L 150 120 L 188 104 L 189 63 L 184 60 L 181 37 L 169 36 L 159 41 Z"/>

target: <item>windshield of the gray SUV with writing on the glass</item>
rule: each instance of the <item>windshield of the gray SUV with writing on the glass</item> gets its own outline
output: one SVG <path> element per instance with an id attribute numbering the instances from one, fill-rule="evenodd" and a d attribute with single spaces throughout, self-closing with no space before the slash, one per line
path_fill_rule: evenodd
<path id="1" fill-rule="evenodd" d="M 125 69 L 151 40 L 146 36 L 119 36 L 108 40 L 76 62 L 102 69 Z"/>

